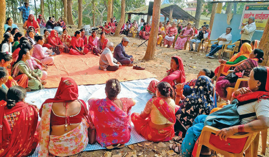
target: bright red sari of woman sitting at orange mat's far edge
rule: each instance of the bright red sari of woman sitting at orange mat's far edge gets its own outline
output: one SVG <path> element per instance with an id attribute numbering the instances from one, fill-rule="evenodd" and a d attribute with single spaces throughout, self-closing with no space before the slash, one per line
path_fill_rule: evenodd
<path id="1" fill-rule="evenodd" d="M 89 49 L 84 48 L 84 40 L 82 38 L 78 38 L 73 36 L 71 40 L 71 49 L 69 51 L 69 54 L 71 55 L 82 55 L 80 52 L 76 51 L 75 48 L 77 49 L 84 49 L 83 52 L 87 54 L 89 52 Z"/>

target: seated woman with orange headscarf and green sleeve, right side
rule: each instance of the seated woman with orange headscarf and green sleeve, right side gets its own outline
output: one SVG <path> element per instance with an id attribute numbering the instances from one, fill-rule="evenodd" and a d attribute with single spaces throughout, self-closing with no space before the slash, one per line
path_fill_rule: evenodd
<path id="1" fill-rule="evenodd" d="M 242 60 L 249 58 L 249 54 L 251 52 L 252 52 L 252 48 L 251 48 L 250 44 L 244 43 L 242 45 L 242 47 L 240 48 L 240 52 L 234 54 L 230 60 L 226 61 L 226 60 L 220 59 L 219 62 L 221 64 L 229 64 L 229 65 L 237 64 L 237 63 L 241 62 Z M 228 72 L 228 70 L 230 68 L 231 67 L 224 67 L 224 72 L 225 73 Z M 215 72 L 214 72 L 215 76 L 218 76 L 219 69 L 220 69 L 220 66 L 218 66 L 215 69 Z"/>

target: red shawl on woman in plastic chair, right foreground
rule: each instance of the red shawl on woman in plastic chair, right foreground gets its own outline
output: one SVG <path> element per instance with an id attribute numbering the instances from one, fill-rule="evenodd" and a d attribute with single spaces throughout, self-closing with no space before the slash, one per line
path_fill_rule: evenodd
<path id="1" fill-rule="evenodd" d="M 267 80 L 266 80 L 265 91 L 256 91 L 256 92 L 250 92 L 250 93 L 238 95 L 236 96 L 236 99 L 239 102 L 244 102 L 251 99 L 258 99 L 258 101 L 260 99 L 269 99 L 269 67 L 266 67 L 266 68 L 267 68 Z M 234 93 L 232 95 L 234 95 Z"/>

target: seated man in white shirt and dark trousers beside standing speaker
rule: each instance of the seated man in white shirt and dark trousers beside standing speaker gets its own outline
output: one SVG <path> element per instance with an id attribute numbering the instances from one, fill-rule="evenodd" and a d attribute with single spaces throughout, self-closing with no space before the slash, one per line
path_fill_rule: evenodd
<path id="1" fill-rule="evenodd" d="M 211 46 L 211 51 L 210 53 L 206 54 L 205 56 L 207 56 L 208 58 L 214 58 L 214 54 L 216 52 L 218 52 L 219 50 L 222 49 L 224 44 L 229 44 L 230 41 L 232 40 L 232 34 L 231 34 L 232 28 L 231 27 L 227 27 L 226 28 L 226 33 L 223 33 L 219 38 L 218 44 L 214 44 Z"/>

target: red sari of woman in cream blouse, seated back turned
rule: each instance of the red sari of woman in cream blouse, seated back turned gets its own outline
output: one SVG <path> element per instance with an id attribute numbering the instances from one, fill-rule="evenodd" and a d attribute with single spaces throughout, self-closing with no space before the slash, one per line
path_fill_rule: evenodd
<path id="1" fill-rule="evenodd" d="M 153 98 L 149 101 L 151 101 L 160 113 L 173 123 L 173 125 L 161 130 L 153 129 L 149 126 L 149 122 L 151 121 L 150 116 L 143 119 L 139 113 L 133 113 L 131 117 L 135 130 L 149 141 L 162 142 L 171 140 L 175 136 L 174 124 L 176 123 L 176 116 L 174 111 L 162 98 Z"/>

